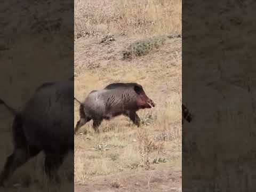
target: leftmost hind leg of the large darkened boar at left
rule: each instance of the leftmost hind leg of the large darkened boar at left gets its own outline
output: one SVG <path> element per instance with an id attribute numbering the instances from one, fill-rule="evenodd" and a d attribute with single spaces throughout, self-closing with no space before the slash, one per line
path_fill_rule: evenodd
<path id="1" fill-rule="evenodd" d="M 13 151 L 13 154 L 7 158 L 7 161 L 4 165 L 4 170 L 0 175 L 0 186 L 3 185 L 4 181 L 7 180 L 13 172 L 25 164 L 31 157 L 34 157 L 39 153 L 39 150 L 27 148 L 16 148 Z"/>

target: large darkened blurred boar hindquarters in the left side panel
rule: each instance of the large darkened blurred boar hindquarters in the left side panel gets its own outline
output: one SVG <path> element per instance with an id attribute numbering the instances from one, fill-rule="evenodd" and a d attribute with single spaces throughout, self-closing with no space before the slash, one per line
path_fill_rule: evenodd
<path id="1" fill-rule="evenodd" d="M 74 82 L 45 83 L 20 111 L 0 100 L 14 116 L 13 153 L 0 175 L 3 185 L 12 173 L 41 151 L 45 153 L 45 172 L 57 179 L 56 171 L 68 152 L 74 153 Z M 53 177 L 54 176 L 54 177 Z"/>

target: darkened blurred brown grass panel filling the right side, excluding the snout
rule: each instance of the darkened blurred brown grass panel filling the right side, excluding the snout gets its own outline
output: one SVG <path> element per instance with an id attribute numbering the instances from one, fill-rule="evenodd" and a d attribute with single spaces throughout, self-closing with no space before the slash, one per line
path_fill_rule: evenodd
<path id="1" fill-rule="evenodd" d="M 182 1 L 183 191 L 255 191 L 253 1 Z"/>

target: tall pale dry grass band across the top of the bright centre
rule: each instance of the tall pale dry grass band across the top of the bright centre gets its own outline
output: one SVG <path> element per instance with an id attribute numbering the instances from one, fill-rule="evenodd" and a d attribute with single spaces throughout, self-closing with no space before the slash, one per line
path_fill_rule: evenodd
<path id="1" fill-rule="evenodd" d="M 75 38 L 106 33 L 180 34 L 181 0 L 76 0 Z"/>

